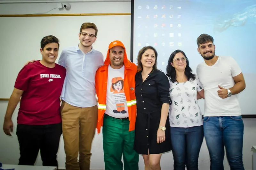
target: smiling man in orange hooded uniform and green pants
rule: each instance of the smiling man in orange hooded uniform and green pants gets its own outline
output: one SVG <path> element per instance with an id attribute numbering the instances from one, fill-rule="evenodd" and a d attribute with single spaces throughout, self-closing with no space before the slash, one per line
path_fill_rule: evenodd
<path id="1" fill-rule="evenodd" d="M 139 169 L 139 155 L 133 150 L 136 120 L 135 74 L 137 66 L 127 59 L 121 41 L 108 46 L 107 58 L 95 76 L 98 96 L 98 134 L 102 128 L 106 170 Z M 103 123 L 104 122 L 104 123 Z"/>

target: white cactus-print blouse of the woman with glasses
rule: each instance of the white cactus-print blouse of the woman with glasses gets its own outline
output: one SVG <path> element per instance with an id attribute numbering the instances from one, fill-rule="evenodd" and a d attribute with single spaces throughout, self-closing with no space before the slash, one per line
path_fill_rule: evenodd
<path id="1" fill-rule="evenodd" d="M 171 127 L 188 128 L 203 125 L 202 112 L 197 103 L 197 91 L 203 89 L 198 77 L 186 82 L 170 82 L 172 105 L 169 108 Z"/>

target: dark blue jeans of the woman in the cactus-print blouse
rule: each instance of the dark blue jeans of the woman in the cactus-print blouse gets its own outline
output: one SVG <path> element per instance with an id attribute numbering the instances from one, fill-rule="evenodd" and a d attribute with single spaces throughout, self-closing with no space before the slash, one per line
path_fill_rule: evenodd
<path id="1" fill-rule="evenodd" d="M 198 170 L 198 156 L 204 139 L 203 126 L 171 127 L 174 170 Z"/>

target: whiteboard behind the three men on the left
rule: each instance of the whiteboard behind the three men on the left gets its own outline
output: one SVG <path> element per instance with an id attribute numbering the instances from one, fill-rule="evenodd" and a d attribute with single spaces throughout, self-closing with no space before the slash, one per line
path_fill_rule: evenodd
<path id="1" fill-rule="evenodd" d="M 27 61 L 42 59 L 40 42 L 44 36 L 59 39 L 60 56 L 63 48 L 78 45 L 78 33 L 84 22 L 93 22 L 98 27 L 93 48 L 105 58 L 108 45 L 114 40 L 124 43 L 130 58 L 130 15 L 0 17 L 0 98 L 10 98 L 17 75 Z"/>

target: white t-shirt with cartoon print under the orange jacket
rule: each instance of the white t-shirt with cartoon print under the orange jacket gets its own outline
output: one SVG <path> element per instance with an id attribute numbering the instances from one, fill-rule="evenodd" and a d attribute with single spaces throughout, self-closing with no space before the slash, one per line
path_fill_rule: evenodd
<path id="1" fill-rule="evenodd" d="M 124 66 L 113 69 L 108 65 L 108 84 L 105 114 L 116 117 L 128 117 L 128 108 L 124 94 Z"/>

